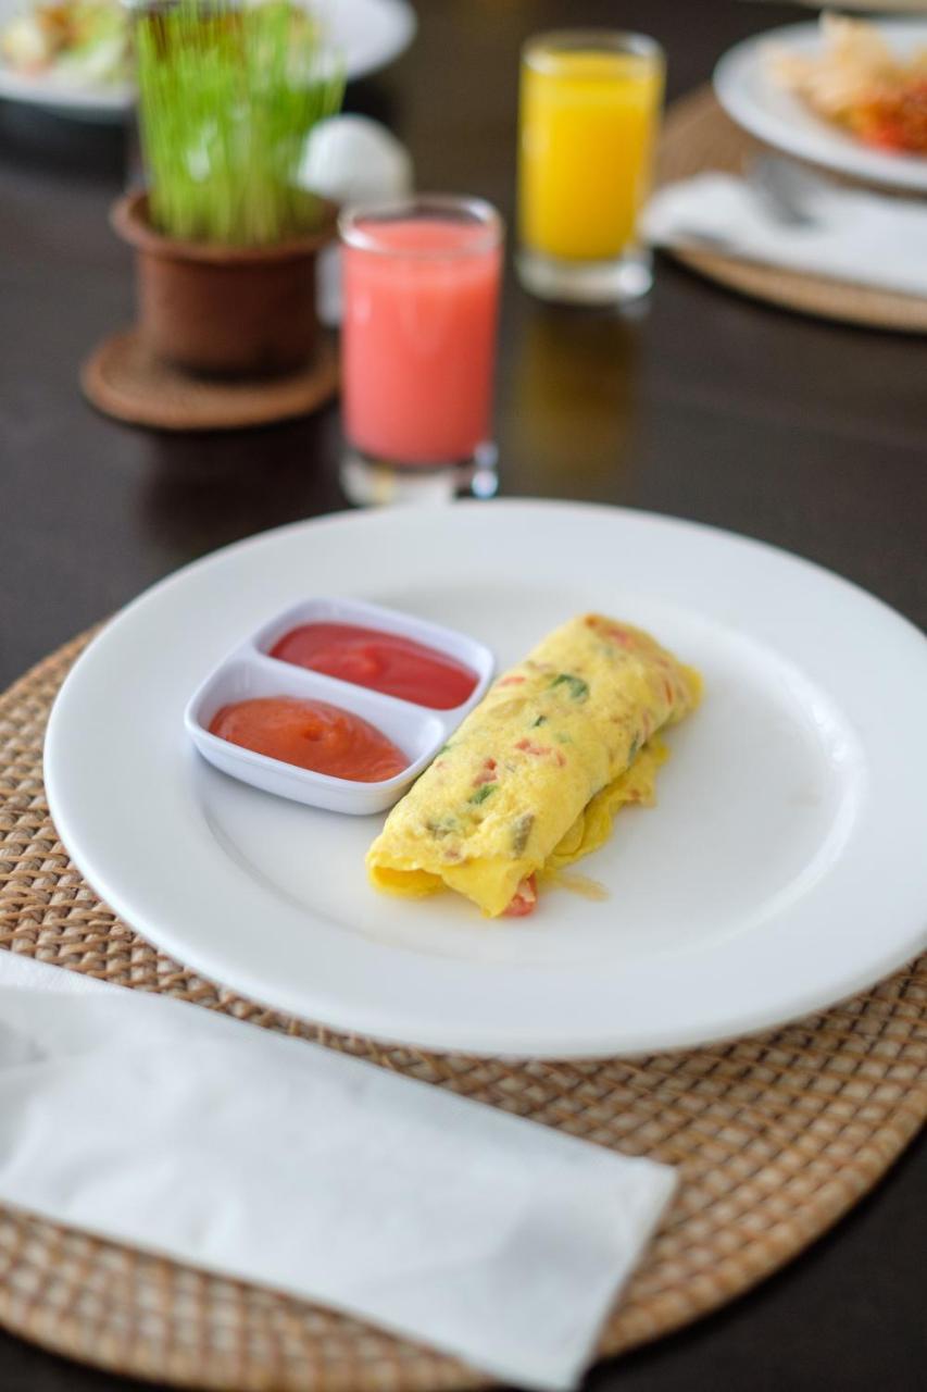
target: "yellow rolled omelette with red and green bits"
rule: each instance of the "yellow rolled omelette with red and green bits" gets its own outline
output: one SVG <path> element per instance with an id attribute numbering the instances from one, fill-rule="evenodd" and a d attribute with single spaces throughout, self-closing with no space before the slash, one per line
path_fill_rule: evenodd
<path id="1" fill-rule="evenodd" d="M 700 689 L 642 629 L 571 619 L 493 683 L 395 805 L 367 852 L 370 881 L 413 896 L 455 889 L 498 917 L 532 876 L 603 845 L 625 803 L 653 803 L 657 732 Z"/>

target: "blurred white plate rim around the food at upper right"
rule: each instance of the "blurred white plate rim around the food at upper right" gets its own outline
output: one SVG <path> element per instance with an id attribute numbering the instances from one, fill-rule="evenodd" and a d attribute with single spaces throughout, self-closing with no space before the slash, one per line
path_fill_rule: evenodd
<path id="1" fill-rule="evenodd" d="M 899 54 L 927 46 L 927 19 L 880 19 L 877 28 Z M 927 191 L 927 159 L 870 149 L 821 120 L 774 81 L 768 56 L 821 52 L 814 22 L 770 29 L 738 43 L 714 70 L 714 90 L 728 116 L 759 139 L 814 164 L 889 188 Z"/>

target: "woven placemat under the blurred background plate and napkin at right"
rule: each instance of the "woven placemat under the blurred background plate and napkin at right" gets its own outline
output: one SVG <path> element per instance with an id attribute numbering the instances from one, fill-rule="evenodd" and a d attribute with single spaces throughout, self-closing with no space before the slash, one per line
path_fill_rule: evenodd
<path id="1" fill-rule="evenodd" d="M 672 184 L 707 170 L 742 173 L 745 163 L 763 146 L 731 121 L 718 106 L 711 88 L 699 88 L 674 102 L 660 142 L 657 184 Z M 668 255 L 708 280 L 772 305 L 798 309 L 820 319 L 869 324 L 898 333 L 927 333 L 927 299 L 869 290 L 818 276 L 802 276 L 721 256 L 717 252 L 668 249 Z"/>

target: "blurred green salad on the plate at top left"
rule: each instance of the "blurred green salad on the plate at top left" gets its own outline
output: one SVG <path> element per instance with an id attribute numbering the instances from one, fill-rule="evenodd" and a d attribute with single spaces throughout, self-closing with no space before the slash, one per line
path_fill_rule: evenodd
<path id="1" fill-rule="evenodd" d="M 26 77 L 54 75 L 75 86 L 106 86 L 131 77 L 131 14 L 118 0 L 33 4 L 0 35 L 0 56 Z"/>

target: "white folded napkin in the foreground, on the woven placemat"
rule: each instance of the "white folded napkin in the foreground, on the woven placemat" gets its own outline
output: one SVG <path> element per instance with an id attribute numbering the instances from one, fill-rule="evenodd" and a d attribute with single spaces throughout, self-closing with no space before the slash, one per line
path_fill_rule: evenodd
<path id="1" fill-rule="evenodd" d="M 0 1203 L 573 1386 L 675 1176 L 0 951 Z"/>

